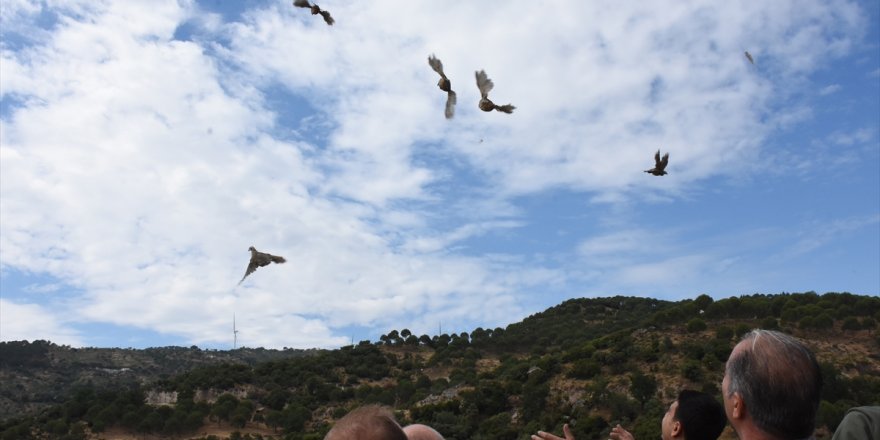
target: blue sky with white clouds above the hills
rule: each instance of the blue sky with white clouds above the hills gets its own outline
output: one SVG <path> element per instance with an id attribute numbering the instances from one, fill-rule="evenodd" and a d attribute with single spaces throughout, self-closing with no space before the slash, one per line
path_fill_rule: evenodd
<path id="1" fill-rule="evenodd" d="M 234 314 L 242 345 L 338 347 L 579 297 L 880 295 L 880 5 L 718 3 L 328 0 L 330 27 L 4 1 L 0 340 L 228 348 Z M 477 108 L 480 69 L 513 114 Z M 238 286 L 251 245 L 287 263 Z"/>

